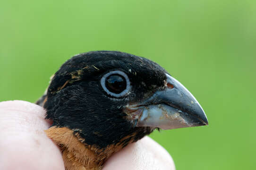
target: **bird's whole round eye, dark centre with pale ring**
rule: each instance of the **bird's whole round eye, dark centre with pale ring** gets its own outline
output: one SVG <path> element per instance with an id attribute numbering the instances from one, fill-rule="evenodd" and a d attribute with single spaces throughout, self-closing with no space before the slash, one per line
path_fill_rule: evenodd
<path id="1" fill-rule="evenodd" d="M 102 88 L 113 97 L 122 97 L 130 91 L 131 85 L 127 74 L 123 71 L 111 71 L 101 79 Z"/>

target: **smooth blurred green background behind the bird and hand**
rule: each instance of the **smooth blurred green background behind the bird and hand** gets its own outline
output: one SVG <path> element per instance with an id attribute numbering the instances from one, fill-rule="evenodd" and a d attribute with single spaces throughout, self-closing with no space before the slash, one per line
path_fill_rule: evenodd
<path id="1" fill-rule="evenodd" d="M 196 96 L 209 126 L 151 135 L 177 170 L 254 169 L 255 0 L 1 0 L 0 101 L 35 102 L 95 50 L 152 59 Z"/>

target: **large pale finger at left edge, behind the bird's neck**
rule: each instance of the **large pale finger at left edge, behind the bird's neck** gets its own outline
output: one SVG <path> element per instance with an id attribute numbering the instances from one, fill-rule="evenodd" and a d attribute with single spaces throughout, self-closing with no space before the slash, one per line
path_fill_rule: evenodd
<path id="1" fill-rule="evenodd" d="M 0 102 L 0 170 L 64 170 L 59 148 L 44 133 L 45 110 L 30 102 Z"/>

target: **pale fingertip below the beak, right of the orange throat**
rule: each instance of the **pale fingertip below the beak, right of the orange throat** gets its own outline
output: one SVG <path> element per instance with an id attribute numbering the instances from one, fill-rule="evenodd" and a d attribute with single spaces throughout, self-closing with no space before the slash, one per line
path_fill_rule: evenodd
<path id="1" fill-rule="evenodd" d="M 150 137 L 145 136 L 136 143 L 111 156 L 103 170 L 175 170 L 171 155 Z"/>

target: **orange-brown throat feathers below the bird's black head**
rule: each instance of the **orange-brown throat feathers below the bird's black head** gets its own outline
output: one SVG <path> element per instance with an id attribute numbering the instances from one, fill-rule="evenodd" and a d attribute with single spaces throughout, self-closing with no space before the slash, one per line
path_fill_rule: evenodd
<path id="1" fill-rule="evenodd" d="M 122 141 L 131 137 L 124 137 L 117 144 L 99 148 L 95 145 L 86 144 L 86 139 L 81 138 L 78 132 L 74 133 L 68 127 L 53 126 L 45 132 L 60 147 L 66 170 L 101 170 L 103 163 L 113 153 L 124 147 Z M 129 143 L 132 142 L 133 140 L 130 140 Z"/>

